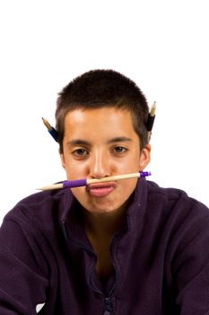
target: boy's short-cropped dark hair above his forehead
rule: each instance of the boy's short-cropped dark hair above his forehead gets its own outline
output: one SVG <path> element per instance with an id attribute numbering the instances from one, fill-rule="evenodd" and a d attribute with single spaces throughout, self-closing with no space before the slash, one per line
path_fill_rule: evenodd
<path id="1" fill-rule="evenodd" d="M 77 76 L 57 97 L 56 128 L 60 152 L 63 152 L 65 116 L 76 108 L 117 107 L 131 112 L 141 148 L 147 144 L 146 122 L 149 107 L 135 82 L 112 69 L 96 69 Z"/>

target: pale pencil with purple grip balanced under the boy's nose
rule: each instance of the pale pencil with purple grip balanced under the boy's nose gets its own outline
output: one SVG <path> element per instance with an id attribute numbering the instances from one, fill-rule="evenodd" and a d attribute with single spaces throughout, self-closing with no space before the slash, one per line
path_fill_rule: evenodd
<path id="1" fill-rule="evenodd" d="M 90 179 L 76 179 L 72 181 L 65 180 L 60 184 L 50 184 L 48 186 L 44 186 L 38 188 L 38 190 L 53 190 L 53 189 L 62 189 L 62 188 L 75 188 L 75 187 L 82 187 L 88 184 L 97 184 L 97 183 L 105 183 L 105 182 L 112 182 L 118 181 L 121 179 L 128 179 L 128 178 L 135 178 L 135 177 L 145 177 L 151 175 L 151 172 L 137 172 L 137 173 L 130 173 L 124 175 L 115 175 L 115 176 L 108 176 L 103 178 L 90 178 Z"/>

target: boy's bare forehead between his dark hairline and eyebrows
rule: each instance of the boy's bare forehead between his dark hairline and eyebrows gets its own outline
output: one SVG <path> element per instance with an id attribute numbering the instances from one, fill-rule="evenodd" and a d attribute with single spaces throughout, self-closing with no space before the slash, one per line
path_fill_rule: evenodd
<path id="1" fill-rule="evenodd" d="M 124 109 L 104 107 L 74 109 L 65 116 L 66 133 L 135 133 L 131 113 Z"/>

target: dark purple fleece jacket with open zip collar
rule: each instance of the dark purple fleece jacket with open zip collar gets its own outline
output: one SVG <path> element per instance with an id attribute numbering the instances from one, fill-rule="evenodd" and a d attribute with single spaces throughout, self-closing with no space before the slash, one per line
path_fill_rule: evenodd
<path id="1" fill-rule="evenodd" d="M 141 178 L 106 286 L 70 190 L 19 202 L 0 229 L 0 314 L 208 315 L 209 210 Z"/>

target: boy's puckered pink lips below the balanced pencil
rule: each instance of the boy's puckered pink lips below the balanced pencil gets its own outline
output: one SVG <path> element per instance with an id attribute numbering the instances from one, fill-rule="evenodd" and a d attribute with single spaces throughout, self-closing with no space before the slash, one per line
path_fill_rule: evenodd
<path id="1" fill-rule="evenodd" d="M 115 182 L 107 182 L 100 184 L 89 184 L 86 189 L 92 196 L 104 197 L 111 193 L 115 188 Z"/>

